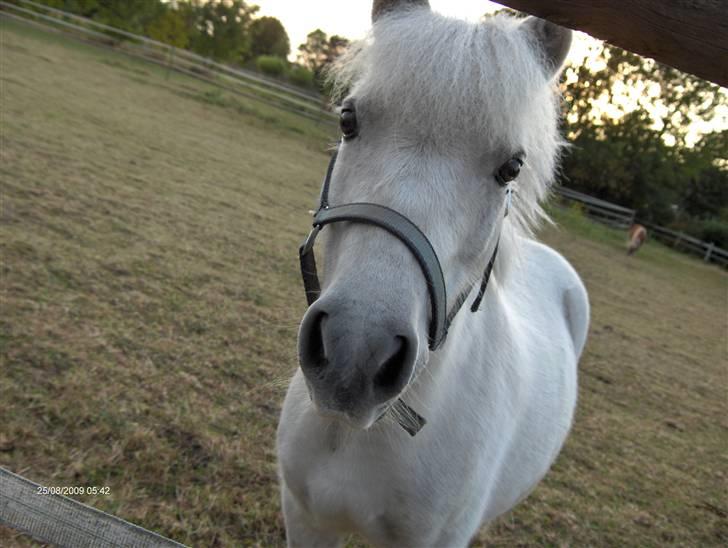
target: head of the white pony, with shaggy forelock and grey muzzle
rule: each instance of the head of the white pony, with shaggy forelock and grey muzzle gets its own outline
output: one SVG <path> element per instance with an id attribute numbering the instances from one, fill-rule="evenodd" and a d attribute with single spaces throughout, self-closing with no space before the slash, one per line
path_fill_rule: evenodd
<path id="1" fill-rule="evenodd" d="M 561 144 L 554 80 L 571 32 L 536 18 L 468 23 L 426 0 L 377 0 L 372 15 L 368 37 L 332 72 L 343 140 L 329 201 L 383 205 L 416 224 L 450 308 L 483 275 L 499 234 L 513 245 L 544 216 Z M 504 220 L 506 184 L 516 195 Z M 300 363 L 322 413 L 368 428 L 428 360 L 428 288 L 389 231 L 339 222 L 325 235 Z"/>

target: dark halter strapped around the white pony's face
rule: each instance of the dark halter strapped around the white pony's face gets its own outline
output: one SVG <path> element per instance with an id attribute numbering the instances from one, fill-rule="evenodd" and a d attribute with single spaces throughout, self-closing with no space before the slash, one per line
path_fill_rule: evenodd
<path id="1" fill-rule="evenodd" d="M 326 170 L 326 178 L 324 179 L 323 187 L 321 189 L 321 202 L 313 217 L 313 230 L 311 230 L 308 237 L 303 244 L 301 244 L 301 247 L 298 250 L 301 261 L 303 286 L 306 290 L 306 299 L 308 300 L 308 304 L 309 306 L 312 305 L 321 293 L 321 285 L 319 284 L 318 274 L 316 272 L 316 258 L 313 253 L 314 242 L 316 241 L 316 236 L 318 236 L 321 229 L 327 224 L 340 221 L 352 221 L 381 227 L 390 234 L 399 238 L 399 240 L 407 246 L 410 252 L 414 255 L 415 259 L 417 259 L 417 262 L 422 269 L 422 273 L 427 281 L 427 289 L 430 294 L 430 304 L 432 307 L 432 317 L 430 319 L 428 332 L 429 348 L 430 351 L 435 351 L 440 348 L 442 343 L 445 341 L 450 323 L 460 311 L 460 308 L 467 299 L 472 287 L 469 287 L 461 293 L 460 296 L 458 296 L 448 313 L 445 277 L 442 274 L 440 261 L 437 258 L 437 254 L 435 253 L 432 244 L 427 239 L 427 236 L 424 235 L 417 225 L 401 213 L 378 204 L 359 202 L 338 206 L 329 205 L 331 174 L 334 171 L 338 152 L 339 149 L 337 147 L 331 155 L 331 161 L 329 162 L 329 167 Z M 510 193 L 510 189 L 508 189 L 507 192 Z M 507 209 L 506 214 L 508 214 Z M 498 240 L 500 240 L 500 236 L 498 237 Z M 490 279 L 490 274 L 493 270 L 493 264 L 495 263 L 497 253 L 498 242 L 496 242 L 493 254 L 490 257 L 490 261 L 488 261 L 485 272 L 483 273 L 480 290 L 470 307 L 471 312 L 476 312 L 480 307 L 485 290 L 488 287 L 488 280 Z M 400 411 L 400 413 L 397 413 L 400 424 L 403 428 L 405 428 L 405 430 L 414 436 L 424 425 L 425 420 L 417 415 L 417 413 L 407 406 L 407 404 L 405 404 L 401 399 L 399 399 L 395 405 L 398 406 Z M 399 416 L 403 416 L 404 418 L 399 418 Z"/>

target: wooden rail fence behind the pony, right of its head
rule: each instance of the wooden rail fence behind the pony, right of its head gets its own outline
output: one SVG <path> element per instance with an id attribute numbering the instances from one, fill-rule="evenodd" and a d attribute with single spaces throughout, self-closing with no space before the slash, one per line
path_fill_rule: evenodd
<path id="1" fill-rule="evenodd" d="M 638 222 L 648 229 L 649 237 L 685 253 L 698 255 L 705 262 L 713 262 L 728 267 L 728 251 L 716 246 L 713 242 L 704 242 L 683 232 L 675 232 L 642 221 L 636 218 L 633 209 L 618 206 L 564 186 L 555 186 L 554 192 L 565 201 L 580 204 L 584 212 L 595 221 L 621 229 L 629 228 L 633 223 Z"/>

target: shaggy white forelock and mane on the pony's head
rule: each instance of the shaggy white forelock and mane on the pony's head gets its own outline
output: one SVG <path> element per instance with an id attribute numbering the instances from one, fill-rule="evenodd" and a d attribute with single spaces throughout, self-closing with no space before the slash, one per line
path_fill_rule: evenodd
<path id="1" fill-rule="evenodd" d="M 379 19 L 329 72 L 335 97 L 374 97 L 394 128 L 416 127 L 442 150 L 457 154 L 445 147 L 464 137 L 494 150 L 523 147 L 527 169 L 506 223 L 513 240 L 508 233 L 530 236 L 547 219 L 539 202 L 562 146 L 558 94 L 539 46 L 520 25 L 504 15 L 470 23 L 400 10 Z"/>

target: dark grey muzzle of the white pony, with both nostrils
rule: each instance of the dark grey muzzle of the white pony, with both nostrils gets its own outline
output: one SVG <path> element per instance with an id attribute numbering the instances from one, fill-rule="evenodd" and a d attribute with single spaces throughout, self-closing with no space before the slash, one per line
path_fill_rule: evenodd
<path id="1" fill-rule="evenodd" d="M 370 318 L 356 307 L 314 303 L 299 332 L 299 361 L 319 409 L 339 412 L 368 427 L 382 405 L 412 377 L 417 338 L 408 326 Z"/>

